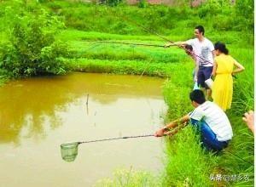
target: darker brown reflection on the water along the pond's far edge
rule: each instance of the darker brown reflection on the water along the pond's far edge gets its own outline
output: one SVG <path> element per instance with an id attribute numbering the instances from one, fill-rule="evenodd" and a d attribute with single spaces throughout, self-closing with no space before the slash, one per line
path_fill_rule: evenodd
<path id="1" fill-rule="evenodd" d="M 91 101 L 109 105 L 119 98 L 160 97 L 161 80 L 150 77 L 73 73 L 65 77 L 37 77 L 9 82 L 0 88 L 0 143 L 19 144 L 20 136 L 44 138 L 45 128 L 63 123 L 59 111 L 71 103 Z M 86 99 L 89 94 L 89 105 Z"/>

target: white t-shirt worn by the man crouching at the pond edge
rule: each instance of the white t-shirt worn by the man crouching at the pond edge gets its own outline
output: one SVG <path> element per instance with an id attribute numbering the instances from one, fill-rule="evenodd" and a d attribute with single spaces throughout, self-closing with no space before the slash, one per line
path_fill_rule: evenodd
<path id="1" fill-rule="evenodd" d="M 230 121 L 224 111 L 218 105 L 206 101 L 202 105 L 195 108 L 189 113 L 190 118 L 207 122 L 208 126 L 216 134 L 218 141 L 226 141 L 232 139 L 233 132 Z"/>

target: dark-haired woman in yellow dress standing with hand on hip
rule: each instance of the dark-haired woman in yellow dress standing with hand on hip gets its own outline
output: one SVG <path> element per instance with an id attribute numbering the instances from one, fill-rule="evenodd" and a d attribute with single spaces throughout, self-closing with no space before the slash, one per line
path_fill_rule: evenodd
<path id="1" fill-rule="evenodd" d="M 214 45 L 215 60 L 212 76 L 216 76 L 212 86 L 212 99 L 224 111 L 230 109 L 233 95 L 232 75 L 244 71 L 244 67 L 229 55 L 229 50 L 222 42 Z M 236 69 L 234 70 L 234 66 Z"/>

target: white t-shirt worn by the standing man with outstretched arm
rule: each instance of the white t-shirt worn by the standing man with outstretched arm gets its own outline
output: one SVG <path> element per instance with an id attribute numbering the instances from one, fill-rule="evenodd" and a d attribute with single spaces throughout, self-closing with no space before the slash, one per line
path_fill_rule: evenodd
<path id="1" fill-rule="evenodd" d="M 204 37 L 203 41 L 200 42 L 198 38 L 195 38 L 186 41 L 186 43 L 193 47 L 196 55 L 200 56 L 196 57 L 199 65 L 206 67 L 213 65 L 212 51 L 214 50 L 214 46 L 210 40 Z"/>

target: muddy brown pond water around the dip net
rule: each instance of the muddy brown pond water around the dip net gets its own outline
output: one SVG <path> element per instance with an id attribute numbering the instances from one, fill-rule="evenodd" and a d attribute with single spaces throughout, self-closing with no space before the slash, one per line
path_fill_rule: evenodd
<path id="1" fill-rule="evenodd" d="M 92 186 L 118 167 L 158 173 L 161 139 L 80 144 L 73 162 L 60 144 L 154 133 L 163 81 L 73 73 L 9 82 L 0 88 L 0 186 Z"/>

